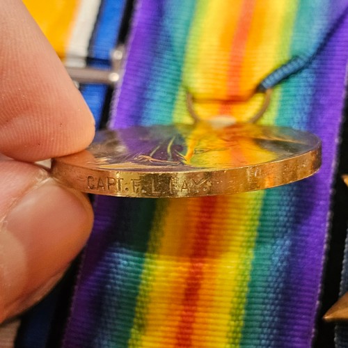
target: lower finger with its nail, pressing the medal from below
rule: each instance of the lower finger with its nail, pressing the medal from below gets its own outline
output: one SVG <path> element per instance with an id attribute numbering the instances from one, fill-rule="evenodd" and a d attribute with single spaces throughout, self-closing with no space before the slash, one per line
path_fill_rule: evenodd
<path id="1" fill-rule="evenodd" d="M 86 243 L 86 197 L 33 164 L 0 161 L 0 322 L 44 296 Z"/>

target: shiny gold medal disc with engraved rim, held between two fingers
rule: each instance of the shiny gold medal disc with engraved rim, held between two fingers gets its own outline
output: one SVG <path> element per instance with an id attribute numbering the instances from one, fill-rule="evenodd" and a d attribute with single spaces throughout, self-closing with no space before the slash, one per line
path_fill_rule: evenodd
<path id="1" fill-rule="evenodd" d="M 317 136 L 285 127 L 157 125 L 97 132 L 86 150 L 52 162 L 52 175 L 88 193 L 193 197 L 267 189 L 315 173 Z"/>

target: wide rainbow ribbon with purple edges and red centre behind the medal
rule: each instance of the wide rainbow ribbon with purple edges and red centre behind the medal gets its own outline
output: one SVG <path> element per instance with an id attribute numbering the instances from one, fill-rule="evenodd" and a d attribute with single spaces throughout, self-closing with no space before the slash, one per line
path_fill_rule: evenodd
<path id="1" fill-rule="evenodd" d="M 318 134 L 323 165 L 308 180 L 233 196 L 97 197 L 65 348 L 310 347 L 345 87 L 347 6 L 139 1 L 111 127 L 191 122 L 186 89 L 203 118 L 228 113 L 243 121 L 260 104 L 253 91 L 263 81 L 276 86 L 262 122 Z"/>

